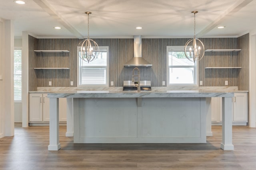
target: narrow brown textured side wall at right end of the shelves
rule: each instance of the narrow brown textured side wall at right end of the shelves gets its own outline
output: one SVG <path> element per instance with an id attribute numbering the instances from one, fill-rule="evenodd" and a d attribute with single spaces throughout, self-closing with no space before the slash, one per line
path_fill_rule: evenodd
<path id="1" fill-rule="evenodd" d="M 238 63 L 242 66 L 238 72 L 238 90 L 249 90 L 249 33 L 238 37 Z"/>

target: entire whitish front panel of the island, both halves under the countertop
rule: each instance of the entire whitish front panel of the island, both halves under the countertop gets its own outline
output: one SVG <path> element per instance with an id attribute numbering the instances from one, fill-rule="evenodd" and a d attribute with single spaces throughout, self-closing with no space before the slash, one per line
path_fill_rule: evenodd
<path id="1" fill-rule="evenodd" d="M 142 98 L 141 105 L 137 98 L 80 98 L 74 141 L 206 143 L 206 115 L 201 115 L 206 111 L 200 98 Z"/>

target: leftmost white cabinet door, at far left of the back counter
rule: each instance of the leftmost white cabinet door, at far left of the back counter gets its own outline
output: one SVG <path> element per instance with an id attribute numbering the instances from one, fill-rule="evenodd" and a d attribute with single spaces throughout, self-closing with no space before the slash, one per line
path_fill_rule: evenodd
<path id="1" fill-rule="evenodd" d="M 42 121 L 42 94 L 29 95 L 29 121 Z"/>

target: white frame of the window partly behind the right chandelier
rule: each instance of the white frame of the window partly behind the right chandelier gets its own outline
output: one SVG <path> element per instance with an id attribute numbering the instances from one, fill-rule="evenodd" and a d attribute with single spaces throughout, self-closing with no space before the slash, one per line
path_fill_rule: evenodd
<path id="1" fill-rule="evenodd" d="M 174 49 L 174 50 L 180 50 L 180 51 L 184 51 L 184 46 L 166 46 L 166 75 L 167 75 L 167 83 L 166 86 L 198 86 L 198 61 L 195 61 L 195 65 L 194 65 L 194 83 L 190 84 L 190 83 L 185 83 L 185 84 L 172 84 L 170 83 L 170 70 L 169 68 L 192 68 L 191 66 L 172 66 L 169 67 L 169 51 L 171 51 L 170 49 Z"/>

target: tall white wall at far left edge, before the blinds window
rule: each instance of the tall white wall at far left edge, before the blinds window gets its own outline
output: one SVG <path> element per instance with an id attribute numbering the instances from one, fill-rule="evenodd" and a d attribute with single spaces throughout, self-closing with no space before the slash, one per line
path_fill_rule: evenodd
<path id="1" fill-rule="evenodd" d="M 14 27 L 0 19 L 0 137 L 14 135 Z"/>

